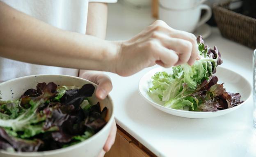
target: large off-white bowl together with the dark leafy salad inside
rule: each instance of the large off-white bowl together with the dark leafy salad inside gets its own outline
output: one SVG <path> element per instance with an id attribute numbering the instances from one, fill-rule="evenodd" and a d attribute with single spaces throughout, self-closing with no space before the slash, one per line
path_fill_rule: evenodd
<path id="1" fill-rule="evenodd" d="M 0 84 L 0 156 L 97 156 L 114 121 L 97 85 L 67 75 L 32 75 Z"/>

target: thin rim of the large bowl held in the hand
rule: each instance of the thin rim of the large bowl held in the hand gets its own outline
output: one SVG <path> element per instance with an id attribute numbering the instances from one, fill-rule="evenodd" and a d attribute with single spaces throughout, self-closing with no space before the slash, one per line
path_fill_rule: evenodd
<path id="1" fill-rule="evenodd" d="M 6 83 L 9 83 L 9 82 L 13 82 L 13 81 L 17 81 L 17 80 L 23 80 L 23 79 L 26 79 L 26 78 L 36 77 L 36 76 L 38 76 L 38 77 L 40 77 L 40 76 L 69 77 L 69 78 L 75 78 L 75 79 L 78 79 L 78 80 L 86 81 L 87 83 L 91 83 L 94 86 L 98 86 L 94 82 L 83 79 L 81 77 L 70 76 L 70 75 L 57 75 L 57 74 L 39 74 L 39 75 L 28 75 L 28 76 L 18 77 L 18 78 L 14 78 L 14 79 L 11 79 L 11 80 L 8 80 L 8 81 L 5 81 L 5 82 L 1 82 L 0 86 L 2 84 L 6 84 Z M 107 121 L 107 124 L 100 131 L 98 131 L 98 133 L 94 134 L 92 137 L 89 137 L 88 139 L 86 139 L 82 142 L 79 142 L 77 144 L 74 144 L 74 145 L 71 145 L 71 146 L 68 146 L 68 147 L 65 147 L 65 148 L 55 149 L 55 150 L 46 150 L 46 151 L 40 151 L 40 152 L 8 152 L 6 150 L 0 150 L 0 154 L 2 153 L 2 154 L 6 154 L 6 155 L 19 155 L 19 156 L 28 156 L 28 157 L 35 156 L 35 155 L 37 155 L 37 156 L 40 156 L 40 155 L 54 155 L 54 154 L 63 153 L 63 152 L 72 150 L 74 148 L 78 148 L 78 147 L 82 146 L 85 143 L 91 142 L 92 140 L 96 139 L 102 132 L 104 132 L 108 128 L 107 126 L 112 125 L 112 121 L 114 120 L 114 104 L 113 104 L 112 97 L 110 97 L 110 95 L 107 95 L 107 97 L 105 99 L 109 99 L 109 101 L 110 101 L 110 104 L 112 106 L 112 115 L 110 116 L 110 119 Z"/>

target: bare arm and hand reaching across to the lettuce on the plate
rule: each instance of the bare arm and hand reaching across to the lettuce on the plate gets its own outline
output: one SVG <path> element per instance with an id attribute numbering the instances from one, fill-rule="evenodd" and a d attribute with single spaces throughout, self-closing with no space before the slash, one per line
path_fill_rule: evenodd
<path id="1" fill-rule="evenodd" d="M 75 69 L 110 71 L 129 76 L 159 64 L 192 65 L 198 56 L 193 34 L 161 20 L 126 41 L 105 41 L 57 29 L 0 2 L 0 56 Z"/>

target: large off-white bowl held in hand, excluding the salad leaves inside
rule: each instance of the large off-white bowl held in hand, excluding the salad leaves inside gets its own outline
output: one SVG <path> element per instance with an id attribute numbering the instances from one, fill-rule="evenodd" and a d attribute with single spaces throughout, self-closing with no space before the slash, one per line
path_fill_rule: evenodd
<path id="1" fill-rule="evenodd" d="M 54 82 L 55 84 L 60 86 L 82 86 L 84 84 L 91 83 L 97 88 L 97 85 L 93 82 L 79 77 L 73 77 L 68 75 L 31 75 L 0 83 L 0 96 L 3 100 L 16 99 L 20 97 L 27 89 L 36 88 L 38 82 Z M 114 121 L 114 106 L 110 96 L 107 96 L 105 100 L 101 101 L 96 98 L 95 91 L 89 100 L 93 104 L 100 102 L 101 109 L 103 109 L 103 107 L 105 106 L 108 109 L 106 117 L 107 124 L 98 133 L 83 142 L 66 148 L 43 152 L 13 153 L 7 152 L 5 150 L 0 150 L 0 157 L 97 157 L 110 133 L 111 124 Z"/>

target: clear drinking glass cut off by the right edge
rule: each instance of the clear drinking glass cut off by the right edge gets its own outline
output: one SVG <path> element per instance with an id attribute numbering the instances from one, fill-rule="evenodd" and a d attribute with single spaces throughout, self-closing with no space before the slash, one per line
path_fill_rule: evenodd
<path id="1" fill-rule="evenodd" d="M 253 113 L 253 126 L 256 128 L 256 49 L 253 53 L 253 101 L 254 101 L 254 113 Z"/>

